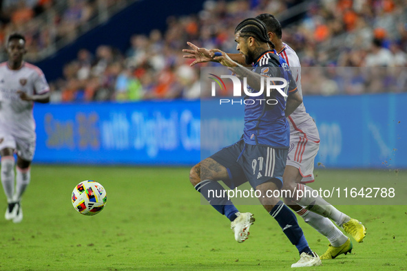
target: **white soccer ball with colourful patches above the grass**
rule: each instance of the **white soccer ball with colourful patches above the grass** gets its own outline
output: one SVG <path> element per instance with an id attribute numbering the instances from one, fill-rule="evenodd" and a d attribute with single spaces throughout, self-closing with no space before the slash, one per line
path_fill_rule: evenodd
<path id="1" fill-rule="evenodd" d="M 106 204 L 105 188 L 98 182 L 83 181 L 75 186 L 72 192 L 72 204 L 82 215 L 101 213 Z"/>

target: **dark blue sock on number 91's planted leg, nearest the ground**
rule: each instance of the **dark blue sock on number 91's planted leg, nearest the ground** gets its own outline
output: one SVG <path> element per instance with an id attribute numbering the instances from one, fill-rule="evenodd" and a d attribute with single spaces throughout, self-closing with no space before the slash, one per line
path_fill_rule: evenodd
<path id="1" fill-rule="evenodd" d="M 270 215 L 277 220 L 286 237 L 297 247 L 300 254 L 306 252 L 312 255 L 311 248 L 309 248 L 304 233 L 298 225 L 297 217 L 281 200 L 271 209 Z"/>

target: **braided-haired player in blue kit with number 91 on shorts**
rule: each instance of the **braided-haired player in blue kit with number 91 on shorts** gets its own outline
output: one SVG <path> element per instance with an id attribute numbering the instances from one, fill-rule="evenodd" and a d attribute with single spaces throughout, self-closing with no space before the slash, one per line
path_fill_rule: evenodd
<path id="1" fill-rule="evenodd" d="M 285 78 L 289 86 L 286 92 L 294 100 L 298 99 L 298 105 L 302 102 L 295 80 L 285 61 L 272 49 L 274 45 L 269 41 L 266 25 L 262 21 L 250 18 L 239 23 L 235 30 L 235 41 L 246 63 L 255 63 L 252 70 L 232 61 L 220 50 L 213 50 L 222 54 L 215 60 L 230 67 L 238 76 L 246 77 L 247 88 L 252 92 L 259 91 L 264 76 Z M 253 215 L 240 213 L 230 200 L 215 197 L 209 191 L 218 191 L 215 195 L 225 195 L 224 188 L 217 182 L 220 180 L 229 187 L 237 187 L 249 181 L 253 188 L 260 191 L 261 204 L 278 221 L 286 237 L 300 252 L 300 260 L 291 267 L 320 265 L 320 258 L 309 248 L 293 212 L 280 198 L 269 197 L 267 193 L 279 190 L 283 185 L 282 175 L 289 149 L 289 123 L 284 113 L 286 100 L 278 91 L 272 91 L 270 97 L 263 93 L 258 99 L 275 99 L 278 102 L 268 105 L 267 102 L 257 101 L 253 105 L 244 105 L 242 139 L 194 166 L 190 172 L 191 184 L 213 208 L 231 220 L 236 240 L 242 242 L 247 239 L 249 226 L 254 221 Z"/>

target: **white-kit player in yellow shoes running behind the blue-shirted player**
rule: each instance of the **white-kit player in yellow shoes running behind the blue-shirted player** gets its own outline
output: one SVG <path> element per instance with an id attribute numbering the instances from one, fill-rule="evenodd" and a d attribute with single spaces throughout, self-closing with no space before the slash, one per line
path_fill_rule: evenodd
<path id="1" fill-rule="evenodd" d="M 289 45 L 282 42 L 280 22 L 271 14 L 260 14 L 256 18 L 267 25 L 269 39 L 275 45 L 275 50 L 278 54 L 291 67 L 293 78 L 302 96 L 300 60 L 295 51 Z M 184 56 L 185 58 L 195 58 L 191 65 L 215 61 L 213 53 L 209 50 L 198 48 L 192 43 L 188 44 L 193 50 L 183 50 L 183 52 L 189 53 L 189 55 Z M 245 63 L 242 54 L 228 55 L 238 63 Z M 289 100 L 287 100 L 287 109 L 288 107 Z M 314 159 L 319 149 L 320 137 L 315 122 L 306 113 L 304 103 L 301 103 L 293 111 L 287 109 L 286 116 L 290 124 L 290 148 L 284 171 L 283 189 L 291 191 L 302 190 L 305 195 L 306 190 L 308 192 L 313 191 L 312 188 L 304 184 L 314 182 Z M 329 240 L 328 250 L 321 255 L 321 259 L 335 259 L 340 254 L 351 252 L 353 248 L 351 239 L 346 237 L 328 218 L 333 219 L 338 226 L 344 228 L 358 242 L 362 242 L 366 235 L 366 228 L 359 221 L 351 219 L 351 217 L 340 212 L 321 197 L 302 197 L 297 202 L 293 202 L 291 199 L 284 199 L 284 202 L 295 210 L 295 213 L 300 215 L 306 223 L 310 224 Z"/>

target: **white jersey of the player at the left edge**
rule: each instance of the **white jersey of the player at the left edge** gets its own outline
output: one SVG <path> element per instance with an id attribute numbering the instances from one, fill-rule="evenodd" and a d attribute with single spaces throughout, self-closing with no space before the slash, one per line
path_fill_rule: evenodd
<path id="1" fill-rule="evenodd" d="M 21 100 L 17 91 L 30 96 L 50 91 L 39 67 L 23 62 L 20 69 L 0 63 L 0 129 L 17 138 L 34 139 L 35 122 L 32 116 L 34 102 Z"/>

